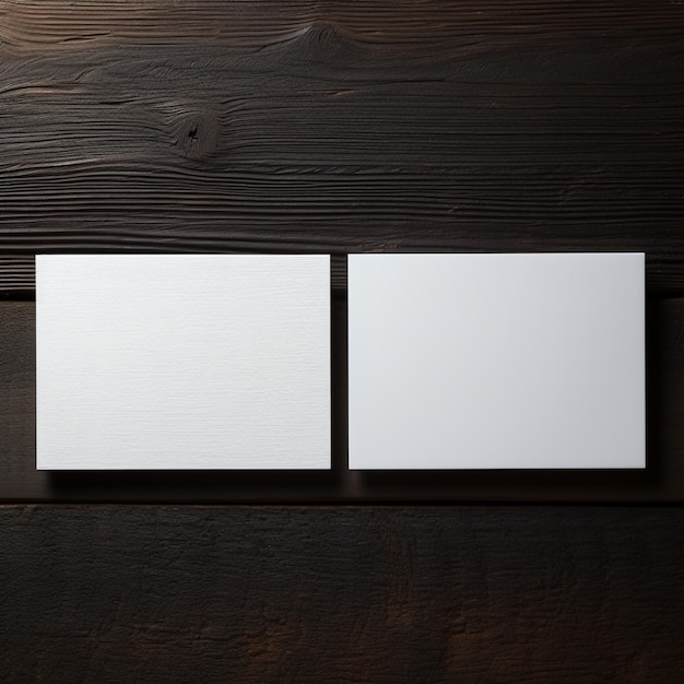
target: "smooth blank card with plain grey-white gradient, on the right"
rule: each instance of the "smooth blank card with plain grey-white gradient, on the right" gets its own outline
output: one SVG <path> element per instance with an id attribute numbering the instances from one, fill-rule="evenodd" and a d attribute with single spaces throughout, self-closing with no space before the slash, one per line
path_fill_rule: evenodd
<path id="1" fill-rule="evenodd" d="M 350 468 L 644 468 L 644 291 L 642 253 L 350 256 Z"/>

